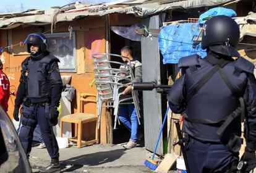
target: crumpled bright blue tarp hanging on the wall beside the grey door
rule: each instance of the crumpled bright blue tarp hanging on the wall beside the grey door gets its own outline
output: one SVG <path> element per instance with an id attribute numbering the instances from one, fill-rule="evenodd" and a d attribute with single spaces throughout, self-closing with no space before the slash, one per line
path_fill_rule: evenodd
<path id="1" fill-rule="evenodd" d="M 206 56 L 200 41 L 193 41 L 199 35 L 198 23 L 181 23 L 161 28 L 158 41 L 164 64 L 176 64 L 179 59 L 191 54 Z M 194 39 L 196 40 L 196 39 Z"/>

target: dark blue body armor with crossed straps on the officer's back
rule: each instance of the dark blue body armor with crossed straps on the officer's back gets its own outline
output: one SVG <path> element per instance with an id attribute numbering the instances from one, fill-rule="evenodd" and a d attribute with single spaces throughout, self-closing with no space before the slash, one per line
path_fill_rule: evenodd
<path id="1" fill-rule="evenodd" d="M 239 96 L 244 94 L 247 73 L 253 73 L 254 65 L 241 57 L 216 68 L 216 65 L 193 55 L 182 58 L 179 67 L 186 73 L 184 132 L 198 140 L 214 142 L 227 141 L 234 134 L 240 136 L 241 116 L 234 117 L 221 134 L 217 132 L 231 113 L 239 108 Z M 206 74 L 211 74 L 207 80 Z M 203 84 L 195 92 L 198 83 Z M 234 91 L 227 83 L 231 83 Z"/>

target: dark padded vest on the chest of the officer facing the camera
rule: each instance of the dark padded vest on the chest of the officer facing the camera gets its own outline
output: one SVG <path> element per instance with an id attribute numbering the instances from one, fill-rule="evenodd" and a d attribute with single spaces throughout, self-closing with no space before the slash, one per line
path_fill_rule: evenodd
<path id="1" fill-rule="evenodd" d="M 27 57 L 22 62 L 22 78 L 20 82 L 26 84 L 27 98 L 49 98 L 51 96 L 51 75 L 50 64 L 53 61 L 59 62 L 55 56 L 48 55 L 38 61 Z M 23 81 L 22 81 L 23 80 Z"/>

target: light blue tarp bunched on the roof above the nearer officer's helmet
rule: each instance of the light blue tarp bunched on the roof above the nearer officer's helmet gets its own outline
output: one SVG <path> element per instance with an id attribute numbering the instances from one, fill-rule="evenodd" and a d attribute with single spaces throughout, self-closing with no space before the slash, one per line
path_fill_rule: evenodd
<path id="1" fill-rule="evenodd" d="M 215 15 L 226 15 L 228 17 L 236 17 L 236 12 L 233 11 L 233 9 L 226 9 L 224 7 L 215 7 L 201 14 L 198 19 L 198 23 L 204 24 L 207 21 L 207 19 L 210 19 Z"/>

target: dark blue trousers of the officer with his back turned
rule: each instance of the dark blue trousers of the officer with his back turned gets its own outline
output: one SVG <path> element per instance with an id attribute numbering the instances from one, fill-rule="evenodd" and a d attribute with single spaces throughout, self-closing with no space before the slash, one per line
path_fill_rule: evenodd
<path id="1" fill-rule="evenodd" d="M 187 159 L 192 173 L 226 172 L 236 159 L 223 144 L 202 143 L 193 138 L 191 140 Z"/>

